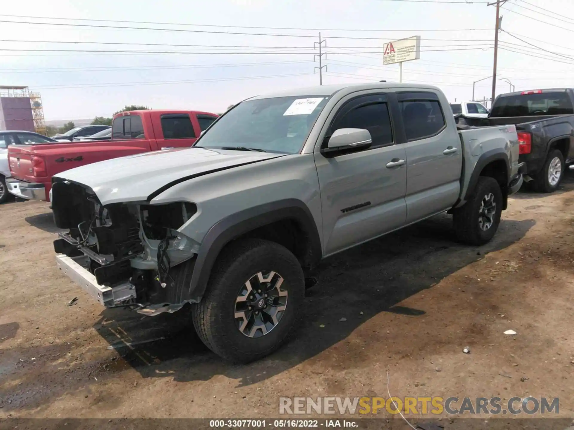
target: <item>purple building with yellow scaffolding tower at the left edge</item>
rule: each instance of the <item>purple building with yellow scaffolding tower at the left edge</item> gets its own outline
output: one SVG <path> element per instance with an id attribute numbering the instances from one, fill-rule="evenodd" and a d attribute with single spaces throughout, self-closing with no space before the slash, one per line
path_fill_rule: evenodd
<path id="1" fill-rule="evenodd" d="M 0 130 L 46 133 L 40 93 L 23 86 L 0 86 Z"/>

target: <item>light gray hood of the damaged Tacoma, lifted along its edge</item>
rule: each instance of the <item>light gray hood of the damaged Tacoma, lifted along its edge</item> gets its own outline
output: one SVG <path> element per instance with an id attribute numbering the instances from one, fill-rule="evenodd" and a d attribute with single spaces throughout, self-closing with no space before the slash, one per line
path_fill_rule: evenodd
<path id="1" fill-rule="evenodd" d="M 90 187 L 103 205 L 145 201 L 174 182 L 285 154 L 175 148 L 113 158 L 54 175 Z M 187 178 L 187 179 L 186 179 Z"/>

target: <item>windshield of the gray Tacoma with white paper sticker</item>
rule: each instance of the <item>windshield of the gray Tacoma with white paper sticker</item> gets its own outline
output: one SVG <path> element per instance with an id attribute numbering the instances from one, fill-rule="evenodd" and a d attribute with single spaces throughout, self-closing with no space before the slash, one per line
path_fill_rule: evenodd
<path id="1" fill-rule="evenodd" d="M 290 96 L 243 101 L 215 122 L 197 144 L 296 154 L 328 99 Z"/>

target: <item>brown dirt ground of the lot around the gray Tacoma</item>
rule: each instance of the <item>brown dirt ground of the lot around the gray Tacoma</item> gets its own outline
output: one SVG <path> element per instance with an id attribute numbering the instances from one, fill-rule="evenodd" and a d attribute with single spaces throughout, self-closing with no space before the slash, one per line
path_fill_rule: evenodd
<path id="1" fill-rule="evenodd" d="M 393 396 L 560 397 L 572 419 L 573 208 L 570 174 L 511 197 L 483 247 L 445 215 L 331 257 L 293 340 L 234 366 L 185 309 L 104 310 L 57 270 L 49 205 L 2 205 L 0 417 L 277 417 L 279 397 L 386 398 L 388 371 Z"/>

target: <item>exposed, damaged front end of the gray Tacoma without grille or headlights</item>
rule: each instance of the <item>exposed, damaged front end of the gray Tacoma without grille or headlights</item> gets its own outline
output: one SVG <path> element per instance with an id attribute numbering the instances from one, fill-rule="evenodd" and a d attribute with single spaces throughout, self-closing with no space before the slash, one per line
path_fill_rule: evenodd
<path id="1" fill-rule="evenodd" d="M 69 229 L 54 241 L 57 264 L 103 306 L 157 315 L 193 301 L 176 266 L 193 265 L 199 251 L 179 231 L 195 204 L 102 205 L 90 188 L 69 181 L 55 182 L 52 197 L 56 226 Z"/>

